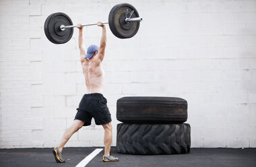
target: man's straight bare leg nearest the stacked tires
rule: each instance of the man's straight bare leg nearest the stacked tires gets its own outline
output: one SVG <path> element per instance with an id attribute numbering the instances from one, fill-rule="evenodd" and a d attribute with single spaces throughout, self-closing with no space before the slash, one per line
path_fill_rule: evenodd
<path id="1" fill-rule="evenodd" d="M 104 145 L 105 145 L 105 150 L 104 150 L 104 156 L 110 156 L 110 147 L 112 143 L 112 125 L 111 122 L 107 123 L 105 125 L 102 125 L 104 128 Z"/>

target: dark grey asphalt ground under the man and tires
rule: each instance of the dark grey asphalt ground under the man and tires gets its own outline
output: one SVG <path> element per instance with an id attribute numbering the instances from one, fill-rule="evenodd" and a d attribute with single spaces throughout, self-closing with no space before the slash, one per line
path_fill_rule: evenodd
<path id="1" fill-rule="evenodd" d="M 66 163 L 58 164 L 52 149 L 0 149 L 0 166 L 76 166 L 96 147 L 70 147 L 64 149 Z M 100 152 L 87 166 L 179 166 L 179 167 L 256 167 L 256 149 L 207 148 L 191 149 L 189 154 L 139 156 L 119 154 L 112 148 L 113 156 L 119 162 L 102 162 L 104 151 Z"/>

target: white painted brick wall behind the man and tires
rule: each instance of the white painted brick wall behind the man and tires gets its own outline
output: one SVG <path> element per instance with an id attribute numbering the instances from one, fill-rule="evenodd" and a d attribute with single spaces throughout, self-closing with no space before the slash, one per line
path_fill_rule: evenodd
<path id="1" fill-rule="evenodd" d="M 0 148 L 54 147 L 86 93 L 77 30 L 66 44 L 44 35 L 57 11 L 104 22 L 102 0 L 0 1 Z M 104 96 L 113 117 L 123 96 L 177 96 L 189 102 L 191 147 L 256 147 L 256 1 L 131 0 L 143 22 L 121 40 L 107 26 Z M 101 30 L 85 28 L 86 46 Z M 56 129 L 56 125 L 61 125 Z M 67 146 L 102 146 L 94 121 Z"/>

